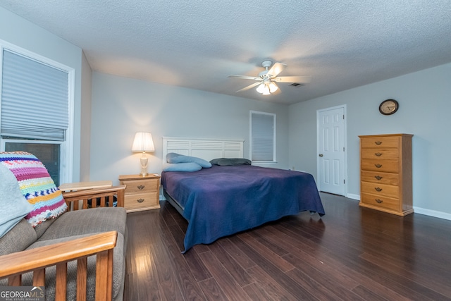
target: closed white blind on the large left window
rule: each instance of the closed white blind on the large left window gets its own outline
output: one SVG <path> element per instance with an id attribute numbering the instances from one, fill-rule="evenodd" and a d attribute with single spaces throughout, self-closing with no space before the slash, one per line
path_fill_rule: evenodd
<path id="1" fill-rule="evenodd" d="M 68 72 L 4 49 L 0 121 L 3 137 L 64 141 Z"/>

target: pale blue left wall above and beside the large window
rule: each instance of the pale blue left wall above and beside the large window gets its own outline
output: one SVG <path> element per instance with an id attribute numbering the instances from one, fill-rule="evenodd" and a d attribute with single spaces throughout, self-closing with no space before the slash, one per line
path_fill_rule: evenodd
<path id="1" fill-rule="evenodd" d="M 73 180 L 80 180 L 82 49 L 1 7 L 0 39 L 75 69 Z"/>

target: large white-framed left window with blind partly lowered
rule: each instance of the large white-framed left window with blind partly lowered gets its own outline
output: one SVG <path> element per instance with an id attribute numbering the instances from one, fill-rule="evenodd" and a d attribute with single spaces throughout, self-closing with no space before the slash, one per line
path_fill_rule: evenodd
<path id="1" fill-rule="evenodd" d="M 37 156 L 72 180 L 74 70 L 0 40 L 0 149 Z"/>

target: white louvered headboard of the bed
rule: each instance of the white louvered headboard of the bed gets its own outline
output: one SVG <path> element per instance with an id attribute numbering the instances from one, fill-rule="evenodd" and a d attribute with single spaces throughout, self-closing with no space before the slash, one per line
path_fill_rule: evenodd
<path id="1" fill-rule="evenodd" d="M 215 158 L 242 158 L 245 140 L 222 140 L 183 137 L 163 137 L 163 164 L 166 154 L 175 152 L 197 156 L 206 161 Z"/>

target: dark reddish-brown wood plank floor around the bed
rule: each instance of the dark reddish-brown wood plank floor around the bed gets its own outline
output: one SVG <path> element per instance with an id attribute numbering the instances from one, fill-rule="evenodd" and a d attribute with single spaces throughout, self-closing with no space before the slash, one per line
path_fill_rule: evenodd
<path id="1" fill-rule="evenodd" d="M 128 214 L 125 300 L 451 300 L 451 221 L 321 199 L 186 254 L 170 204 Z"/>

